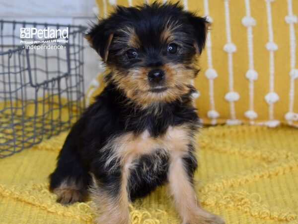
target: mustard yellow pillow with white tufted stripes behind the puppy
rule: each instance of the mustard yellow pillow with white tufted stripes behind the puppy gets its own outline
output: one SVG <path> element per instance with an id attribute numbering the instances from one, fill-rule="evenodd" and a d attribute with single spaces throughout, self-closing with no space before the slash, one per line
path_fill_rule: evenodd
<path id="1" fill-rule="evenodd" d="M 116 3 L 128 6 L 144 1 L 97 3 L 99 17 L 106 17 Z M 200 93 L 196 106 L 203 122 L 298 127 L 298 0 L 181 3 L 212 23 L 195 80 Z M 88 90 L 88 102 L 103 88 L 101 78 L 97 80 Z"/>

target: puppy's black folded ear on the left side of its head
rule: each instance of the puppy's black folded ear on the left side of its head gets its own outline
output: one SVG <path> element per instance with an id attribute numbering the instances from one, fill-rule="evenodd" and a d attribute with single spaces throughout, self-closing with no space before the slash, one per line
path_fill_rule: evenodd
<path id="1" fill-rule="evenodd" d="M 113 33 L 108 29 L 107 23 L 106 19 L 101 20 L 85 35 L 91 47 L 96 50 L 104 62 L 108 60 L 109 48 L 113 39 Z"/>

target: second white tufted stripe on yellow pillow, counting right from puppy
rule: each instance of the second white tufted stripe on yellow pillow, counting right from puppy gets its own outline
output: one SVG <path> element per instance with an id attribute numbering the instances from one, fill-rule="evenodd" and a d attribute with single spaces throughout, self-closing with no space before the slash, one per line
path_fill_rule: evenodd
<path id="1" fill-rule="evenodd" d="M 231 40 L 230 29 L 230 16 L 229 16 L 229 0 L 224 0 L 224 13 L 225 13 L 225 32 L 226 32 L 226 44 L 224 45 L 224 51 L 227 53 L 228 63 L 228 87 L 229 92 L 225 94 L 224 99 L 229 102 L 230 107 L 230 119 L 226 120 L 227 124 L 239 124 L 240 120 L 236 119 L 235 114 L 235 101 L 239 100 L 239 94 L 234 91 L 234 78 L 233 78 L 233 53 L 237 50 L 234 43 Z"/>

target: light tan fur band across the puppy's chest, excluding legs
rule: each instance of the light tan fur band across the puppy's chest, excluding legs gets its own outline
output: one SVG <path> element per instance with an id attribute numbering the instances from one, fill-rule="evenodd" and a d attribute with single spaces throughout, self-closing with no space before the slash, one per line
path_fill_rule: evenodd
<path id="1" fill-rule="evenodd" d="M 160 137 L 152 137 L 148 130 L 136 136 L 133 132 L 125 133 L 111 139 L 104 149 L 112 151 L 106 166 L 117 159 L 128 169 L 135 159 L 142 155 L 153 153 L 155 150 L 163 150 L 165 153 L 179 151 L 186 153 L 188 145 L 193 143 L 189 125 L 169 126 L 166 133 Z"/>

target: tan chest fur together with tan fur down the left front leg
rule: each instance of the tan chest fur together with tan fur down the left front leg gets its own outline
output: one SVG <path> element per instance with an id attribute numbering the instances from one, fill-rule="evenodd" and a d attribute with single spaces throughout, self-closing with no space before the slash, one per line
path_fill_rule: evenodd
<path id="1" fill-rule="evenodd" d="M 120 191 L 116 198 L 102 193 L 97 180 L 93 177 L 92 198 L 99 210 L 103 211 L 97 219 L 97 223 L 124 224 L 129 220 L 128 212 L 128 180 L 134 162 L 138 157 L 163 150 L 165 153 L 187 153 L 188 145 L 192 143 L 190 127 L 179 125 L 169 127 L 166 133 L 160 137 L 152 137 L 148 130 L 136 136 L 132 132 L 110 139 L 103 150 L 110 150 L 108 166 L 114 159 L 121 164 Z M 181 152 L 181 153 L 180 153 Z M 158 159 L 155 159 L 158 161 Z M 152 161 L 155 163 L 156 161 Z M 116 167 L 115 167 L 116 168 Z"/>

